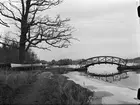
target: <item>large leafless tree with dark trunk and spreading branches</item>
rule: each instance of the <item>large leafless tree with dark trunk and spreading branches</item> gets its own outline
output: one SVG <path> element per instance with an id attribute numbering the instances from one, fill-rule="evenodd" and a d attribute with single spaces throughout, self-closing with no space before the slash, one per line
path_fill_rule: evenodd
<path id="1" fill-rule="evenodd" d="M 46 10 L 61 3 L 61 0 L 4 0 L 0 2 L 0 15 L 11 19 L 19 30 L 19 61 L 24 63 L 25 52 L 30 47 L 50 50 L 50 47 L 66 48 L 70 45 L 73 28 L 66 24 L 70 19 L 60 16 L 51 19 L 43 15 Z M 43 13 L 43 14 L 42 14 Z M 0 24 L 9 27 L 0 19 Z M 41 45 L 45 43 L 44 45 Z"/>

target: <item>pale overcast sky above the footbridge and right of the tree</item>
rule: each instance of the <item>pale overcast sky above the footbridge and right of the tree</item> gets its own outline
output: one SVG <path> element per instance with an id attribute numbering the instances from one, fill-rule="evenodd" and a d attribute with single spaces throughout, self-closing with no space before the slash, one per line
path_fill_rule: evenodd
<path id="1" fill-rule="evenodd" d="M 40 59 L 81 59 L 99 55 L 140 56 L 140 23 L 136 0 L 64 0 L 46 14 L 70 18 L 76 31 L 69 48 L 35 50 Z"/>

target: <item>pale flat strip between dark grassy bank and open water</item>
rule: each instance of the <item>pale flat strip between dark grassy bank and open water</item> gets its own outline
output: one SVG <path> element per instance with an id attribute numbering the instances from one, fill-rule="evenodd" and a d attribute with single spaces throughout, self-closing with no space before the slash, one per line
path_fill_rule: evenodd
<path id="1" fill-rule="evenodd" d="M 81 75 L 78 72 L 70 72 L 64 75 L 69 77 L 69 80 L 73 80 L 75 83 L 80 84 L 81 86 L 86 87 L 91 91 L 95 91 L 96 98 L 94 100 L 100 100 L 101 104 L 140 103 L 139 100 L 134 99 L 137 96 L 136 90 L 89 78 L 87 76 Z M 100 95 L 98 92 L 100 92 Z"/>

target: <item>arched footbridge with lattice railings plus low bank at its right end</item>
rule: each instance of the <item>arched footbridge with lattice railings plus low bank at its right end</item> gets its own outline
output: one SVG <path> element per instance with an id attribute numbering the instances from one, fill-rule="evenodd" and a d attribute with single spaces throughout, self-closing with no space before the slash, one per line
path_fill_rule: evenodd
<path id="1" fill-rule="evenodd" d="M 120 57 L 96 56 L 79 62 L 79 65 L 81 69 L 83 68 L 87 69 L 89 66 L 93 66 L 96 64 L 115 64 L 118 65 L 117 69 L 119 71 L 128 70 L 128 69 L 140 69 L 140 66 L 129 66 L 128 63 L 129 62 L 127 59 L 123 59 Z"/>

